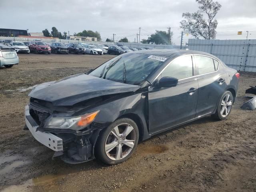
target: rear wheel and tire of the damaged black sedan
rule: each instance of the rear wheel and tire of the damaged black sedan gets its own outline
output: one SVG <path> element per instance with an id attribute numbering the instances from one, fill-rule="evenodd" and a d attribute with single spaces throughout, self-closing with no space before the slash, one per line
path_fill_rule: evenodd
<path id="1" fill-rule="evenodd" d="M 222 95 L 218 103 L 217 110 L 215 114 L 213 114 L 212 116 L 217 120 L 226 119 L 231 112 L 232 104 L 233 104 L 232 93 L 230 91 L 224 92 L 224 94 Z"/>

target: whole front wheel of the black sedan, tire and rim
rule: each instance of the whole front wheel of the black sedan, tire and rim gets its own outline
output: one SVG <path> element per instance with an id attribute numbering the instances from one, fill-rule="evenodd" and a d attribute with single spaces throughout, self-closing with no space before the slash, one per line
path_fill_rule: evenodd
<path id="1" fill-rule="evenodd" d="M 100 134 L 96 144 L 96 156 L 109 165 L 124 162 L 136 150 L 138 140 L 139 130 L 136 123 L 129 118 L 118 119 Z"/>

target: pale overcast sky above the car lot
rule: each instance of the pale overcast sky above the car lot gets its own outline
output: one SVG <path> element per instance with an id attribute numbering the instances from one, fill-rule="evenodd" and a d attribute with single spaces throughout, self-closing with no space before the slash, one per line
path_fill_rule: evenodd
<path id="1" fill-rule="evenodd" d="M 218 0 L 216 39 L 256 38 L 256 0 Z M 148 38 L 155 30 L 170 26 L 173 42 L 180 44 L 180 21 L 183 12 L 196 12 L 195 0 L 0 0 L 0 28 L 29 29 L 29 32 L 51 31 L 78 33 L 98 31 L 102 40 L 127 36 L 134 41 L 138 28 Z M 242 35 L 237 35 L 243 31 Z M 184 36 L 187 42 L 191 36 Z"/>

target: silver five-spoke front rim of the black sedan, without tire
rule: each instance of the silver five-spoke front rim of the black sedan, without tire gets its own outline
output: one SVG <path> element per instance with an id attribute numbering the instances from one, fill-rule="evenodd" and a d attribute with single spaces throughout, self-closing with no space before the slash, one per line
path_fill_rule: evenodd
<path id="1" fill-rule="evenodd" d="M 136 141 L 136 132 L 130 124 L 114 127 L 105 142 L 105 152 L 111 160 L 120 160 L 130 154 Z"/>

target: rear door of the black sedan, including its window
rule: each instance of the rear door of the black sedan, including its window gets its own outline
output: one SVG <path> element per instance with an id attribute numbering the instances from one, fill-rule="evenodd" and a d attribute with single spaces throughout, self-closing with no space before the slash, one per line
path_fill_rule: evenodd
<path id="1" fill-rule="evenodd" d="M 219 70 L 220 63 L 206 55 L 194 55 L 198 77 L 198 104 L 196 116 L 212 113 L 226 88 L 226 72 Z"/>

